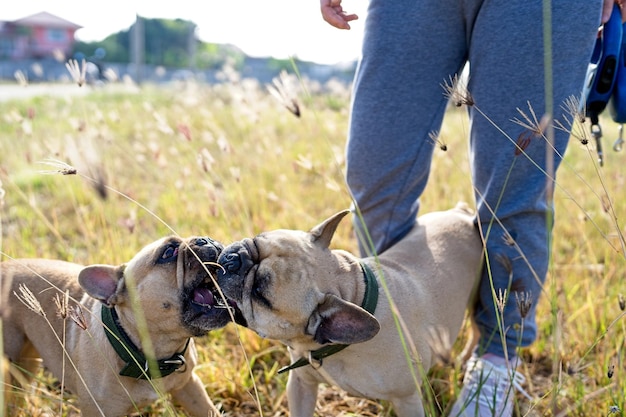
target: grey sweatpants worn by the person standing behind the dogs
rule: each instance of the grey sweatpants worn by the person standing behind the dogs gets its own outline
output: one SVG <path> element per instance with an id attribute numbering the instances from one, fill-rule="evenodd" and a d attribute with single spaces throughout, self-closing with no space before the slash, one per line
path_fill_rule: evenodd
<path id="1" fill-rule="evenodd" d="M 475 319 L 480 347 L 490 353 L 514 353 L 535 340 L 550 253 L 548 145 L 512 119 L 530 103 L 538 117 L 562 120 L 563 103 L 580 96 L 601 4 L 554 0 L 548 3 L 552 20 L 544 22 L 540 0 L 370 1 L 354 82 L 348 185 L 378 253 L 412 228 L 436 146 L 429 133 L 439 131 L 447 105 L 442 84 L 469 62 L 470 162 L 489 261 Z M 552 68 L 544 65 L 547 51 Z M 519 137 L 531 139 L 528 158 L 516 155 Z M 568 134 L 557 130 L 554 140 L 563 155 Z M 556 169 L 559 157 L 549 158 Z M 355 227 L 362 233 L 358 219 Z M 361 251 L 371 253 L 366 245 Z M 494 294 L 503 290 L 511 295 L 498 320 Z M 516 295 L 532 303 L 523 326 Z"/>

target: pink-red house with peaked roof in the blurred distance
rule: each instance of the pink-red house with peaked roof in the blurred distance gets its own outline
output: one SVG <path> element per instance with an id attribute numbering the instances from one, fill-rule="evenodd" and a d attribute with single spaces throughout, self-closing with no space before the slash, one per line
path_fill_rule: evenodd
<path id="1" fill-rule="evenodd" d="M 82 26 L 48 12 L 0 21 L 0 59 L 67 58 Z"/>

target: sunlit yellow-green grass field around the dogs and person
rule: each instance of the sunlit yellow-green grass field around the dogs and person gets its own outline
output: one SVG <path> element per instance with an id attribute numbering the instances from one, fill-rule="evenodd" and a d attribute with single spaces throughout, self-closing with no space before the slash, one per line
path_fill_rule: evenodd
<path id="1" fill-rule="evenodd" d="M 226 244 L 263 230 L 308 229 L 349 207 L 343 182 L 348 88 L 304 88 L 293 79 L 279 84 L 282 102 L 265 86 L 236 78 L 215 86 L 105 86 L 71 97 L 0 102 L 2 259 L 119 264 L 172 233 L 206 234 Z M 287 108 L 290 98 L 300 117 Z M 603 127 L 610 148 L 615 126 L 603 121 Z M 519 396 L 519 415 L 621 415 L 625 406 L 620 222 L 626 155 L 607 150 L 605 166 L 598 167 L 593 141 L 579 140 L 588 126 L 581 129 L 557 179 L 539 340 L 522 351 L 525 388 L 535 400 Z M 467 130 L 465 109 L 451 107 L 422 212 L 459 200 L 473 204 Z M 356 251 L 349 221 L 333 245 Z M 288 357 L 279 343 L 232 324 L 197 342 L 198 374 L 226 415 L 288 415 L 287 376 L 277 374 Z M 430 374 L 436 401 L 429 409 L 445 414 L 459 389 L 460 364 L 436 365 Z M 75 415 L 75 398 L 60 398 L 54 387 L 41 372 L 32 387 L 18 388 L 27 405 L 16 415 Z M 170 410 L 163 399 L 146 414 Z M 321 390 L 317 413 L 393 415 L 384 402 L 332 387 Z"/>

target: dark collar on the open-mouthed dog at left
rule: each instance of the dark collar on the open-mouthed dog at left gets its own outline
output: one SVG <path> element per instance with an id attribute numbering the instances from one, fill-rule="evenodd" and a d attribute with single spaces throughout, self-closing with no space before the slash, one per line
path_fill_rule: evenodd
<path id="1" fill-rule="evenodd" d="M 100 310 L 104 333 L 117 355 L 126 362 L 120 375 L 136 379 L 156 379 L 168 376 L 180 368 L 184 370 L 185 352 L 191 339 L 187 339 L 181 352 L 174 353 L 167 359 L 148 359 L 120 325 L 115 307 L 109 308 L 103 305 Z"/>

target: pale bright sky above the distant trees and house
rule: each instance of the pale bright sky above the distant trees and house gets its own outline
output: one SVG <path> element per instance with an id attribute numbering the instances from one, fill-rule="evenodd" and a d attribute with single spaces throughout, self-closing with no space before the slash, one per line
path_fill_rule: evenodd
<path id="1" fill-rule="evenodd" d="M 0 20 L 46 11 L 83 26 L 76 38 L 91 42 L 127 30 L 136 15 L 180 18 L 197 25 L 200 40 L 232 44 L 250 56 L 337 64 L 360 54 L 367 1 L 343 0 L 342 5 L 359 16 L 351 30 L 327 24 L 319 0 L 2 0 Z"/>

